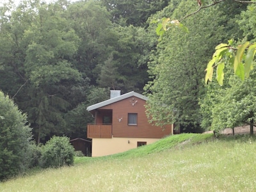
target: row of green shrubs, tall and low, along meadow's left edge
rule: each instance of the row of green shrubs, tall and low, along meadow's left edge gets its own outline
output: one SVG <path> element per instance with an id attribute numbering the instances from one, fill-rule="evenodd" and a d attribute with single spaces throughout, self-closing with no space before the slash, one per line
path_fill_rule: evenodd
<path id="1" fill-rule="evenodd" d="M 74 147 L 69 138 L 53 136 L 38 147 L 31 143 L 31 127 L 26 119 L 26 114 L 0 91 L 0 181 L 35 166 L 48 168 L 74 163 Z"/>

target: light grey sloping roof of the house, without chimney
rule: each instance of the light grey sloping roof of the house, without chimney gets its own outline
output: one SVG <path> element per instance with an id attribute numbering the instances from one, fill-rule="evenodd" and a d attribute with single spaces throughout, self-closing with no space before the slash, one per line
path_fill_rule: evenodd
<path id="1" fill-rule="evenodd" d="M 141 95 L 140 93 L 129 92 L 129 93 L 125 93 L 124 95 L 114 97 L 112 99 L 104 100 L 104 101 L 99 102 L 97 104 L 94 104 L 92 106 L 88 106 L 87 111 L 92 111 L 94 109 L 102 108 L 103 106 L 113 104 L 114 102 L 118 102 L 119 100 L 127 99 L 127 98 L 132 97 L 132 96 L 138 97 L 138 98 L 143 99 L 143 100 L 148 100 L 148 97 L 146 97 L 144 95 Z"/>

